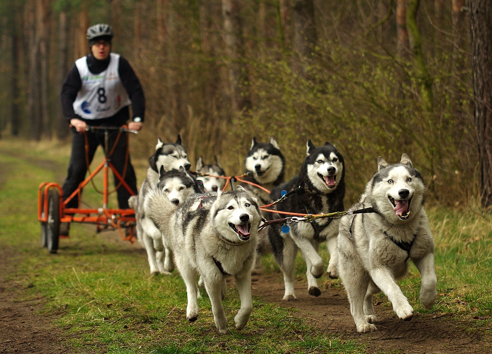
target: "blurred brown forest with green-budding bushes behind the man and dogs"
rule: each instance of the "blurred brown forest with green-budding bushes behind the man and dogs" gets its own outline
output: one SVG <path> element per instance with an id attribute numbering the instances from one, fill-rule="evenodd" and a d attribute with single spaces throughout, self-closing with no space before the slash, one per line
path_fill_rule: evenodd
<path id="1" fill-rule="evenodd" d="M 252 137 L 273 136 L 290 178 L 308 139 L 330 141 L 350 203 L 379 155 L 408 153 L 430 202 L 470 205 L 480 167 L 468 10 L 464 0 L 2 0 L 0 134 L 70 140 L 61 83 L 89 52 L 87 28 L 105 22 L 146 94 L 134 158 L 180 134 L 192 169 L 216 155 L 239 175 Z"/>

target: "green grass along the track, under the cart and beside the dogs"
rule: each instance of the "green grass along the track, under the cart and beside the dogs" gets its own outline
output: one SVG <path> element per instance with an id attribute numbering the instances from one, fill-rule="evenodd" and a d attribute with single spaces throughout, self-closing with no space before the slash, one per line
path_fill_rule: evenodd
<path id="1" fill-rule="evenodd" d="M 0 140 L 0 247 L 12 247 L 18 265 L 10 280 L 24 284 L 27 297 L 43 297 L 43 310 L 63 329 L 66 345 L 79 352 L 361 352 L 363 346 L 341 340 L 296 318 L 291 309 L 253 299 L 254 311 L 241 331 L 233 328 L 237 292 L 228 288 L 224 309 L 231 335 L 215 332 L 210 302 L 199 300 L 200 317 L 186 321 L 186 291 L 177 272 L 150 277 L 144 249 L 96 234 L 93 225 L 72 225 L 75 237 L 61 239 L 57 255 L 41 247 L 36 218 L 37 189 L 43 181 L 61 183 L 69 150 L 53 144 Z M 97 159 L 97 157 L 96 157 Z M 138 165 L 138 162 L 136 163 Z M 145 164 L 142 164 L 145 165 Z M 142 176 L 142 171 L 137 171 Z M 97 193 L 86 189 L 85 197 Z M 478 208 L 428 207 L 436 243 L 438 300 L 427 310 L 418 301 L 420 275 L 414 266 L 400 285 L 417 313 L 458 314 L 463 323 L 490 332 L 492 327 L 492 217 Z M 321 248 L 327 258 L 326 248 Z M 278 272 L 271 257 L 262 260 Z M 298 275 L 305 264 L 297 260 Z M 335 286 L 341 285 L 335 282 Z M 383 295 L 379 297 L 391 306 Z"/>

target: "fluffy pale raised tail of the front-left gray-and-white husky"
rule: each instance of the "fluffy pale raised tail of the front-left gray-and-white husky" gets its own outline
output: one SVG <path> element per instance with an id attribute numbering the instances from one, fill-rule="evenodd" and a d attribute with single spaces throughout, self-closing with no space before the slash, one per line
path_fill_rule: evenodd
<path id="1" fill-rule="evenodd" d="M 144 200 L 144 210 L 163 235 L 172 234 L 176 206 L 162 190 L 156 188 L 148 191 Z"/>

